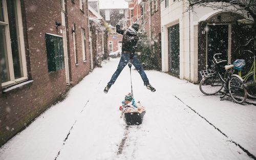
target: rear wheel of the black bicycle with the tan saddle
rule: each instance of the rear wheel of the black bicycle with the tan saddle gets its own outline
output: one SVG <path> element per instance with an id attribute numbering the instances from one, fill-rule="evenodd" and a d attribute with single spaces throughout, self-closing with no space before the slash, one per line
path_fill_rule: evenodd
<path id="1" fill-rule="evenodd" d="M 243 79 L 238 75 L 231 75 L 228 81 L 229 94 L 234 102 L 244 103 L 247 97 L 247 92 Z"/>

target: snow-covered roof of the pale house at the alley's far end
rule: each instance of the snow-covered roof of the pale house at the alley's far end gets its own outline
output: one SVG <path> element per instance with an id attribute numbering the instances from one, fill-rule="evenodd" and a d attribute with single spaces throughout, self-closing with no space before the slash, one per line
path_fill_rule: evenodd
<path id="1" fill-rule="evenodd" d="M 128 3 L 124 0 L 100 0 L 99 9 L 128 9 Z"/>

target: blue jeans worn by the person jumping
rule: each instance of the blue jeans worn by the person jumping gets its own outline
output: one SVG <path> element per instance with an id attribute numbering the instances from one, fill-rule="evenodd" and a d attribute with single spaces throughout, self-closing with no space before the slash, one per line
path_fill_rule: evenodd
<path id="1" fill-rule="evenodd" d="M 119 61 L 117 69 L 116 69 L 116 72 L 113 74 L 113 76 L 111 77 L 111 80 L 109 81 L 108 84 L 114 84 L 115 83 L 117 77 L 122 72 L 125 65 L 129 63 L 129 60 L 130 60 L 130 53 L 122 53 L 121 59 Z M 140 62 L 139 62 L 136 55 L 133 56 L 133 62 L 132 63 L 135 66 L 136 70 L 139 72 L 139 74 L 140 74 L 140 76 L 141 76 L 141 78 L 144 82 L 144 85 L 146 83 L 148 83 L 148 79 L 146 77 L 146 74 L 145 74 L 143 68 L 141 67 Z"/>

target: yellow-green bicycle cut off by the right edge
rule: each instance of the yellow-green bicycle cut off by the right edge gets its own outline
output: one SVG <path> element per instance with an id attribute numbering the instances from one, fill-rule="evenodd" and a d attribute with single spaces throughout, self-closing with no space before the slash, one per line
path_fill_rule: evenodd
<path id="1" fill-rule="evenodd" d="M 251 38 L 245 45 L 243 46 L 247 46 L 250 41 L 252 41 L 253 38 Z M 255 52 L 253 53 L 252 51 L 250 50 L 244 50 L 246 52 L 249 52 L 253 55 L 253 63 L 251 65 L 251 68 L 249 70 L 249 72 L 242 76 L 242 71 L 239 71 L 238 72 L 238 75 L 240 77 L 242 77 L 242 79 L 244 80 L 245 82 L 245 86 L 246 86 L 246 90 L 247 90 L 247 95 L 250 97 L 250 98 L 254 98 L 256 99 L 256 61 L 255 61 Z"/>

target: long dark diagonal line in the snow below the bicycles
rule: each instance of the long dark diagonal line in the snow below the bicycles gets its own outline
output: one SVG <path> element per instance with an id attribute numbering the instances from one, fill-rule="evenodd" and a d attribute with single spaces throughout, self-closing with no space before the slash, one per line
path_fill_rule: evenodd
<path id="1" fill-rule="evenodd" d="M 210 123 L 206 118 L 204 118 L 203 116 L 201 116 L 195 109 L 189 107 L 186 103 L 184 103 L 179 97 L 173 95 L 175 98 L 177 98 L 180 102 L 182 102 L 185 106 L 187 106 L 189 109 L 191 109 L 192 111 L 194 111 L 195 113 L 197 113 L 198 116 L 200 116 L 202 119 L 204 119 L 207 123 L 209 123 L 212 127 L 214 127 L 216 130 L 218 130 L 222 135 L 224 135 L 227 139 L 228 136 L 221 131 L 218 127 L 216 127 L 214 124 Z M 231 142 L 233 144 L 235 144 L 236 146 L 238 146 L 240 149 L 242 149 L 249 157 L 253 158 L 254 160 L 256 160 L 256 157 L 250 153 L 247 149 L 245 149 L 244 147 L 242 147 L 239 143 L 234 142 L 233 140 L 228 140 L 228 142 Z"/>

